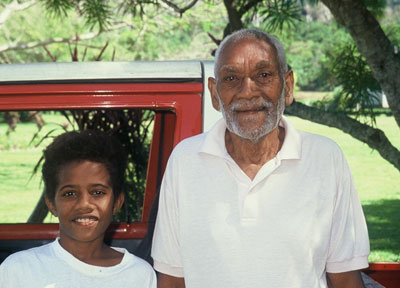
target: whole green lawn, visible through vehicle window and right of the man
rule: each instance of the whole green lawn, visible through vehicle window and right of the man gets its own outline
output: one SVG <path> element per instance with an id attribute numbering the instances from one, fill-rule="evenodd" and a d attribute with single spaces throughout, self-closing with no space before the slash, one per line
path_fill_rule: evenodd
<path id="1" fill-rule="evenodd" d="M 400 173 L 367 145 L 338 129 L 329 128 L 296 117 L 289 117 L 300 130 L 328 136 L 336 141 L 349 162 L 367 219 L 370 261 L 400 261 Z M 41 136 L 57 129 L 66 121 L 57 115 L 46 115 Z M 399 127 L 393 117 L 380 116 L 377 126 L 400 149 Z M 37 131 L 34 124 L 19 124 L 17 133 L 6 134 L 0 124 L 0 222 L 26 222 L 41 195 L 40 175 L 31 180 L 32 169 L 41 157 L 48 139 L 38 147 L 28 145 Z M 38 137 L 40 139 L 41 137 Z M 34 141 L 38 144 L 38 140 Z M 21 199 L 24 201 L 21 202 Z M 47 219 L 46 221 L 56 221 Z"/>

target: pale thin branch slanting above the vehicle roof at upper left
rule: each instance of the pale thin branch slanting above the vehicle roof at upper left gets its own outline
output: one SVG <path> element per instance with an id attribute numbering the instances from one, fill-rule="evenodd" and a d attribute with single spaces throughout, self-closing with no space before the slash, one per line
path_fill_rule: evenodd
<path id="1" fill-rule="evenodd" d="M 128 25 L 126 25 L 125 23 L 121 23 L 121 24 L 109 27 L 104 32 L 122 29 L 127 26 Z M 1 45 L 0 53 L 6 52 L 6 51 L 12 51 L 12 50 L 32 49 L 32 48 L 36 48 L 36 47 L 47 46 L 47 45 L 54 44 L 54 43 L 71 43 L 71 42 L 76 42 L 79 40 L 90 40 L 90 39 L 96 38 L 97 36 L 99 36 L 101 33 L 104 33 L 104 32 L 96 31 L 96 32 L 90 32 L 90 33 L 83 34 L 83 35 L 76 35 L 76 36 L 69 37 L 69 38 L 56 37 L 56 38 L 50 38 L 50 39 L 47 39 L 44 41 L 32 41 L 32 42 L 25 42 L 25 43 L 10 44 L 10 45 Z"/>

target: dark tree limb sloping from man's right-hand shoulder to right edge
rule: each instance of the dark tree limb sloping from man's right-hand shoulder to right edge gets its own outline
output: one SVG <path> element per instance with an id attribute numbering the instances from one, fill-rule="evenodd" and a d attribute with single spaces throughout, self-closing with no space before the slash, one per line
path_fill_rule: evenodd
<path id="1" fill-rule="evenodd" d="M 338 128 L 350 134 L 352 137 L 366 143 L 372 149 L 377 150 L 385 160 L 400 171 L 400 151 L 390 143 L 382 130 L 362 124 L 343 113 L 332 113 L 299 102 L 294 102 L 290 107 L 286 108 L 285 112 L 288 115 Z"/>

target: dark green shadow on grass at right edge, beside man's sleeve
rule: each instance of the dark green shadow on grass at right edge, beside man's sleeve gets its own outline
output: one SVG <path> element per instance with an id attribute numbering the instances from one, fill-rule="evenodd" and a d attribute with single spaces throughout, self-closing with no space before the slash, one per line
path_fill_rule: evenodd
<path id="1" fill-rule="evenodd" d="M 400 261 L 400 200 L 382 199 L 363 205 L 371 251 L 379 251 L 379 261 Z"/>

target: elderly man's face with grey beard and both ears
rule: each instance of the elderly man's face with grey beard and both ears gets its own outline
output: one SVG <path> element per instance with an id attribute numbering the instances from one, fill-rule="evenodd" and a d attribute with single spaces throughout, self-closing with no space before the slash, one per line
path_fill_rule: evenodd
<path id="1" fill-rule="evenodd" d="M 217 79 L 209 79 L 213 106 L 230 132 L 258 142 L 277 127 L 293 82 L 281 79 L 276 52 L 266 42 L 244 39 L 221 52 Z"/>

